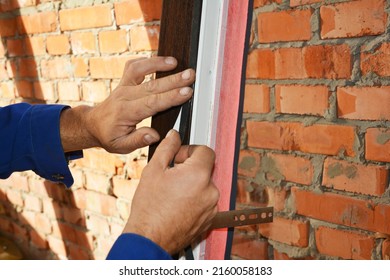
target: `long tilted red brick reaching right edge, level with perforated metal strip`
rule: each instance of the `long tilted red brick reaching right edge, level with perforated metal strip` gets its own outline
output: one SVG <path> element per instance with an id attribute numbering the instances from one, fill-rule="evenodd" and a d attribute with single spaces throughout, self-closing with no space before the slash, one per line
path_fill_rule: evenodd
<path id="1" fill-rule="evenodd" d="M 366 199 L 334 193 L 318 194 L 297 187 L 293 187 L 291 192 L 298 215 L 373 232 L 390 233 L 389 205 L 374 205 Z"/>

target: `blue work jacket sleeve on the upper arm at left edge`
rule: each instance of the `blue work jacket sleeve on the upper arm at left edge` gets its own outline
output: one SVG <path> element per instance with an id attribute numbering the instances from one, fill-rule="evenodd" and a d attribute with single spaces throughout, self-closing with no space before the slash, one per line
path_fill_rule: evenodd
<path id="1" fill-rule="evenodd" d="M 60 114 L 65 105 L 20 103 L 0 108 L 0 178 L 33 170 L 41 177 L 70 187 L 68 160 L 82 151 L 65 154 L 60 137 Z"/>

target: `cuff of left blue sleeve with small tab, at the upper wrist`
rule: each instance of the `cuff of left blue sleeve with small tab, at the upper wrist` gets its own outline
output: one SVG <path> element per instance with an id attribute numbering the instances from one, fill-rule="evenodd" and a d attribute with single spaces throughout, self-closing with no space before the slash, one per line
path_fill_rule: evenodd
<path id="1" fill-rule="evenodd" d="M 60 136 L 60 115 L 65 105 L 34 105 L 31 112 L 30 133 L 36 164 L 34 170 L 43 178 L 73 185 L 68 167 L 70 159 L 82 156 L 82 151 L 64 154 Z M 49 131 L 49 133 L 48 133 Z"/>

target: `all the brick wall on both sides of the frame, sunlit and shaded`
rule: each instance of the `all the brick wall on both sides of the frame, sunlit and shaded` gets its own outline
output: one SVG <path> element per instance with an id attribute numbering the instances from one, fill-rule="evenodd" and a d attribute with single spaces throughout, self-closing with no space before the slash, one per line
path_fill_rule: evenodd
<path id="1" fill-rule="evenodd" d="M 1 1 L 0 106 L 95 104 L 126 59 L 155 53 L 161 1 L 105 2 Z M 236 229 L 233 258 L 390 258 L 388 10 L 255 0 L 237 206 L 274 206 L 275 221 Z M 0 234 L 28 258 L 104 258 L 145 153 L 87 150 L 69 190 L 32 172 L 0 180 Z"/>

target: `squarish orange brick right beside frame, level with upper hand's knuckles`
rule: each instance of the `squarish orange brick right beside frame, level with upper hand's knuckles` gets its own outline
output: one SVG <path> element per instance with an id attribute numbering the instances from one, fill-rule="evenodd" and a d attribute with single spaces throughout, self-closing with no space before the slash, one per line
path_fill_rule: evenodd
<path id="1" fill-rule="evenodd" d="M 269 113 L 270 92 L 267 85 L 245 85 L 244 113 Z"/>

